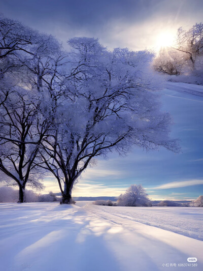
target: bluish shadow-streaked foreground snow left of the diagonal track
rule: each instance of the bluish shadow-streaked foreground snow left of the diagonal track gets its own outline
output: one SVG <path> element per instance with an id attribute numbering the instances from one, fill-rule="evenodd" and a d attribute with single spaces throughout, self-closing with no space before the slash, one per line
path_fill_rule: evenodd
<path id="1" fill-rule="evenodd" d="M 188 255 L 173 244 L 126 230 L 85 208 L 50 205 L 42 211 L 40 205 L 32 208 L 33 215 L 26 207 L 23 214 L 14 210 L 12 224 L 4 226 L 0 240 L 2 270 L 156 271 L 165 270 L 162 263 L 168 261 L 187 261 Z M 15 223 L 18 220 L 20 223 Z M 113 227 L 121 231 L 113 233 Z M 174 268 L 170 270 L 185 270 Z"/>

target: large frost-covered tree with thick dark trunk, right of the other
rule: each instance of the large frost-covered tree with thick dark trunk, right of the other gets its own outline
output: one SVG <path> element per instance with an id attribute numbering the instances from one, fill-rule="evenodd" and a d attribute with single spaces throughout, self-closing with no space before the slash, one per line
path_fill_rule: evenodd
<path id="1" fill-rule="evenodd" d="M 57 178 L 62 203 L 72 202 L 73 186 L 97 156 L 126 154 L 132 145 L 178 152 L 168 138 L 171 117 L 160 112 L 151 53 L 110 52 L 93 38 L 74 38 L 69 45 L 71 72 L 63 80 L 55 131 L 41 152 L 41 166 Z"/>

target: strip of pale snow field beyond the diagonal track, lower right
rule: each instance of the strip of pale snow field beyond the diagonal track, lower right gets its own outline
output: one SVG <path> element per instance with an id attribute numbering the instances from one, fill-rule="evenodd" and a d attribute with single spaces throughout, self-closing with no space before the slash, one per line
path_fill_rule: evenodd
<path id="1" fill-rule="evenodd" d="M 98 206 L 103 217 L 113 221 L 126 219 L 146 225 L 170 230 L 188 237 L 203 240 L 203 208 L 202 207 L 120 207 Z"/>

